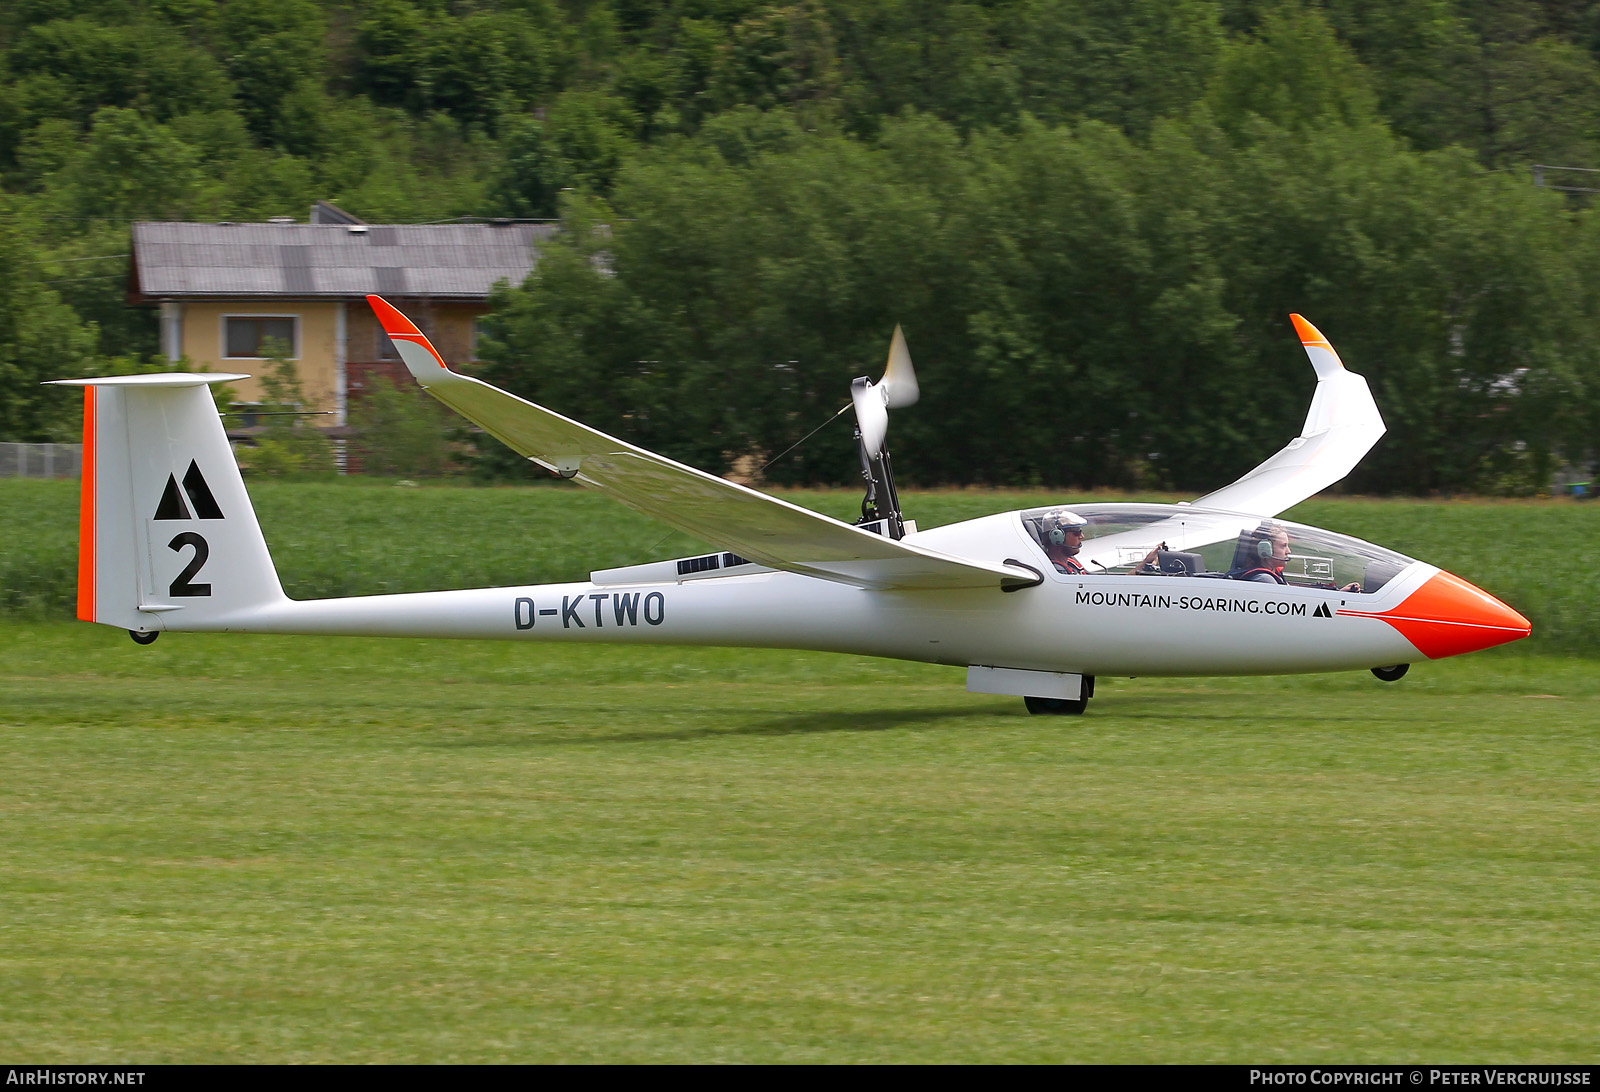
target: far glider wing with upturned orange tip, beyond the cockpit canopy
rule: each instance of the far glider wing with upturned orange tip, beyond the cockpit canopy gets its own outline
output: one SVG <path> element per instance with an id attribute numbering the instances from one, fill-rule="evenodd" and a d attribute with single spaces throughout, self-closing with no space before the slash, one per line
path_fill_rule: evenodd
<path id="1" fill-rule="evenodd" d="M 1384 434 L 1366 379 L 1347 371 L 1328 339 L 1299 315 L 1290 315 L 1317 370 L 1306 426 L 1288 445 L 1232 485 L 1206 493 L 1195 508 L 1277 516 L 1355 469 Z"/>

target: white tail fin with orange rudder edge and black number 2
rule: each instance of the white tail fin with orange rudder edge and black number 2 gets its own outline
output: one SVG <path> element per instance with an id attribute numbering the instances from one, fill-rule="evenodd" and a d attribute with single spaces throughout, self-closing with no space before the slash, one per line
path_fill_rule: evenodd
<path id="1" fill-rule="evenodd" d="M 283 599 L 206 391 L 240 378 L 59 381 L 83 387 L 78 618 L 134 632 L 226 629 Z"/>

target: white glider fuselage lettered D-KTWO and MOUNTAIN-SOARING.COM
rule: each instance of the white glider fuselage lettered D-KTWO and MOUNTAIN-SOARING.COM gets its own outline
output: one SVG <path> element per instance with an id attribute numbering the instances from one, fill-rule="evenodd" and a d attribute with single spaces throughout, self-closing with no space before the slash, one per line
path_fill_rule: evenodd
<path id="1" fill-rule="evenodd" d="M 1048 575 L 1016 591 L 880 591 L 757 570 L 640 584 L 285 597 L 195 623 L 182 605 L 166 604 L 158 618 L 171 631 L 750 645 L 1093 676 L 1285 674 L 1421 658 L 1374 615 L 1438 573 L 1413 562 L 1371 596 L 1202 576 L 1069 576 L 1029 552 L 1018 512 L 917 538 L 936 546 L 960 538 L 966 556 L 982 556 L 973 544 L 989 540 L 995 560 L 1022 554 Z M 1341 613 L 1357 600 L 1360 615 Z"/>

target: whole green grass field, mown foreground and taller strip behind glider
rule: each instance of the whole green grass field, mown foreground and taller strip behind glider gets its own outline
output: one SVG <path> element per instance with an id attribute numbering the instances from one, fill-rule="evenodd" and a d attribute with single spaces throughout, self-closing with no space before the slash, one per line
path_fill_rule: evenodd
<path id="1" fill-rule="evenodd" d="M 139 648 L 18 592 L 72 538 L 70 495 L 19 485 L 10 1060 L 1594 1060 L 1600 680 L 1550 650 L 1594 624 L 1597 509 L 1307 504 L 1544 644 L 1395 685 L 1101 680 L 1062 721 L 810 653 Z M 581 576 L 661 536 L 565 490 L 258 496 L 302 594 Z"/>

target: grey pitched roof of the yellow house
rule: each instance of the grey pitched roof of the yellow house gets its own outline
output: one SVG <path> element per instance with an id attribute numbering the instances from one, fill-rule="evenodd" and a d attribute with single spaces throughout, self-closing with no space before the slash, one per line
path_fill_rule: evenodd
<path id="1" fill-rule="evenodd" d="M 554 224 L 189 224 L 133 226 L 134 299 L 486 299 L 538 261 Z"/>

